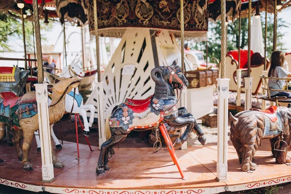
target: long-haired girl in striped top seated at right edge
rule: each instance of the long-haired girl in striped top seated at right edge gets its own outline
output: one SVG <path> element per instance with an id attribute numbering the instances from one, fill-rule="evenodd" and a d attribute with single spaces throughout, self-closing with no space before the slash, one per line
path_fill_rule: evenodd
<path id="1" fill-rule="evenodd" d="M 291 78 L 291 73 L 283 68 L 285 61 L 285 54 L 281 51 L 274 51 L 271 55 L 271 67 L 268 72 L 268 77 L 273 78 Z M 283 90 L 286 85 L 285 80 L 275 80 L 269 79 L 268 86 L 269 89 Z M 291 98 L 291 93 L 289 92 L 278 92 L 270 91 L 271 97 L 287 97 Z"/>

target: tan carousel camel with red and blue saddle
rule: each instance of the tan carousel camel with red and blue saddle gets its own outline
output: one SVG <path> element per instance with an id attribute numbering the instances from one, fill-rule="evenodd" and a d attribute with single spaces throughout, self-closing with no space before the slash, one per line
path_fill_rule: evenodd
<path id="1" fill-rule="evenodd" d="M 49 125 L 59 121 L 65 113 L 65 94 L 72 88 L 78 87 L 78 77 L 56 79 L 54 83 L 48 84 L 52 90 L 52 105 L 49 106 Z M 20 147 L 20 136 L 15 136 L 14 141 L 17 149 L 18 159 L 22 159 L 24 170 L 32 170 L 29 162 L 29 152 L 32 144 L 33 133 L 39 129 L 37 102 L 35 92 L 28 92 L 22 97 L 17 97 L 12 92 L 0 93 L 0 140 L 7 125 L 19 131 L 23 131 L 23 146 Z M 52 163 L 55 168 L 63 168 L 64 164 L 59 162 L 52 149 Z"/>

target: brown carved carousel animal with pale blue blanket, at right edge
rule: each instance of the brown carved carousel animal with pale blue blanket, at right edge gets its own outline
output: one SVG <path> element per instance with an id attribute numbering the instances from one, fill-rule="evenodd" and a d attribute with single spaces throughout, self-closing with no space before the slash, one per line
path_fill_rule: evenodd
<path id="1" fill-rule="evenodd" d="M 272 154 L 277 163 L 289 163 L 291 145 L 291 110 L 271 106 L 266 111 L 251 109 L 233 116 L 229 113 L 230 140 L 235 147 L 242 171 L 255 170 L 253 158 L 261 139 L 270 139 Z M 277 151 L 281 150 L 281 151 Z"/>

